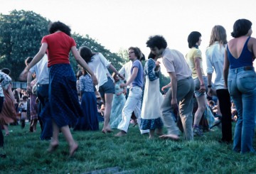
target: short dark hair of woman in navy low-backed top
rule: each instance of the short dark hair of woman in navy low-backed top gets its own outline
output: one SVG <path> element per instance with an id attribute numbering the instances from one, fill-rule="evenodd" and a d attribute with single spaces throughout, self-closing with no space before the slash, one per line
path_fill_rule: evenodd
<path id="1" fill-rule="evenodd" d="M 233 32 L 231 33 L 231 36 L 233 38 L 239 38 L 240 36 L 245 36 L 248 31 L 252 28 L 252 22 L 245 19 L 241 18 L 235 21 L 233 25 Z"/>

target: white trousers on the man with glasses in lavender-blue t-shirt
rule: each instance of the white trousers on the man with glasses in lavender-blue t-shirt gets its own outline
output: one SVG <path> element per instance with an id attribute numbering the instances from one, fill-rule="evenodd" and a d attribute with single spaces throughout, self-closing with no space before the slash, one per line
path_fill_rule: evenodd
<path id="1" fill-rule="evenodd" d="M 134 112 L 137 117 L 137 122 L 140 127 L 141 124 L 141 107 L 142 107 L 142 88 L 132 87 L 129 89 L 129 96 L 122 109 L 122 121 L 119 123 L 117 129 L 127 132 L 129 128 L 129 122 Z M 140 130 L 141 134 L 149 132 L 149 130 Z"/>

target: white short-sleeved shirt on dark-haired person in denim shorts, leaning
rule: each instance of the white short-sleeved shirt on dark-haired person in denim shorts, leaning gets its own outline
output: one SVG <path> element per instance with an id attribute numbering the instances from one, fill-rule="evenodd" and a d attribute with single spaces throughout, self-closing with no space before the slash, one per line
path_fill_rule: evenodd
<path id="1" fill-rule="evenodd" d="M 91 62 L 88 62 L 88 66 L 92 70 L 92 72 L 95 74 L 98 80 L 98 85 L 96 85 L 97 91 L 99 90 L 99 87 L 105 84 L 107 82 L 107 77 L 110 77 L 113 82 L 114 79 L 110 75 L 110 72 L 107 70 L 107 67 L 110 66 L 110 63 L 103 55 L 102 53 L 97 53 L 92 56 Z"/>

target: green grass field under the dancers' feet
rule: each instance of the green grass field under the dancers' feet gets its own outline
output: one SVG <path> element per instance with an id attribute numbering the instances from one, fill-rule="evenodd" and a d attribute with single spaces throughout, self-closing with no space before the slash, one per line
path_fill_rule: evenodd
<path id="1" fill-rule="evenodd" d="M 100 125 L 102 127 L 102 125 Z M 127 136 L 114 137 L 118 131 L 73 131 L 78 151 L 68 159 L 68 144 L 60 134 L 60 146 L 46 153 L 49 141 L 40 141 L 36 133 L 20 126 L 9 126 L 5 136 L 6 158 L 0 158 L 0 173 L 86 173 L 118 166 L 132 173 L 256 173 L 256 156 L 232 151 L 232 145 L 218 143 L 221 131 L 206 133 L 205 140 L 149 140 L 138 127 L 130 127 Z M 254 145 L 256 141 L 254 141 Z"/>

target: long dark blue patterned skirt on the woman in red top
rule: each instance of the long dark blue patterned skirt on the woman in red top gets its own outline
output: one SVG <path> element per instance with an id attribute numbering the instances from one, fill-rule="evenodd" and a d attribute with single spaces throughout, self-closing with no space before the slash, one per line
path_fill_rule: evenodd
<path id="1" fill-rule="evenodd" d="M 70 64 L 56 64 L 49 68 L 50 116 L 58 127 L 75 126 L 82 109 L 78 101 L 76 78 Z"/>

